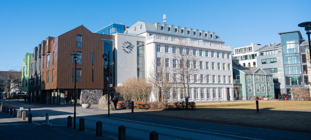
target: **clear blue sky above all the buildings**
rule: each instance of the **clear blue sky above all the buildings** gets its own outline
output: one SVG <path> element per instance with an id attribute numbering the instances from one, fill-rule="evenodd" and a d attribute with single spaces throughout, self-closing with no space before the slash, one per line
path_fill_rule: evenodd
<path id="1" fill-rule="evenodd" d="M 0 70 L 21 69 L 25 52 L 47 36 L 80 25 L 95 32 L 111 23 L 137 21 L 216 32 L 232 49 L 251 42 L 278 43 L 278 32 L 300 30 L 311 21 L 308 0 L 300 1 L 0 1 Z"/>

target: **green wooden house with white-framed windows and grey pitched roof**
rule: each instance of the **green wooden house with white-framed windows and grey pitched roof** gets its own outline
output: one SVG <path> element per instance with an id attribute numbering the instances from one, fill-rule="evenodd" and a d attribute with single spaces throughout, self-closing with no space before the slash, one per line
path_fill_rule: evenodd
<path id="1" fill-rule="evenodd" d="M 256 67 L 233 66 L 234 96 L 253 100 L 256 96 L 275 99 L 273 74 Z"/>

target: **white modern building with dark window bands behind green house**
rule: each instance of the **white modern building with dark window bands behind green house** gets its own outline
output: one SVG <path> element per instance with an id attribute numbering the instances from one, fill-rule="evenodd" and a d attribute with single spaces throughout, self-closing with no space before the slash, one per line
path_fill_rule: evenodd
<path id="1" fill-rule="evenodd" d="M 232 56 L 237 58 L 239 63 L 244 67 L 256 67 L 256 58 L 258 56 L 258 52 L 256 51 L 261 47 L 263 45 L 251 43 L 249 46 L 234 48 L 234 55 Z"/>

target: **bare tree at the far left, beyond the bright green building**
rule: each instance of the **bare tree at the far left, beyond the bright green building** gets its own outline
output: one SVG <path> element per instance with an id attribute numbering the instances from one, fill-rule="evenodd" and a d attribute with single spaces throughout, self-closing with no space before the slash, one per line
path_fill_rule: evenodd
<path id="1" fill-rule="evenodd" d="M 7 93 L 10 93 L 15 85 L 14 80 L 21 76 L 21 72 L 16 70 L 0 71 L 0 83 L 1 86 L 7 89 Z M 9 94 L 8 94 L 9 96 Z"/>

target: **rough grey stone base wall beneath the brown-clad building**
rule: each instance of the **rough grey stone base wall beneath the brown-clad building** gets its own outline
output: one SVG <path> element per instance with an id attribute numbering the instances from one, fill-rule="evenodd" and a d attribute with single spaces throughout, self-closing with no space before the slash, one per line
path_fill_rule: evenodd
<path id="1" fill-rule="evenodd" d="M 100 97 L 103 96 L 103 89 L 81 89 L 80 104 L 87 101 L 89 104 L 98 104 Z"/>

